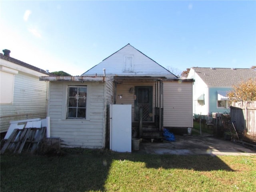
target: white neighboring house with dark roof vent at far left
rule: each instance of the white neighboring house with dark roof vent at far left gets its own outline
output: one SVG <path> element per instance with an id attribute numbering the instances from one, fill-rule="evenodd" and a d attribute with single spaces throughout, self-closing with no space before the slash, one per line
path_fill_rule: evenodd
<path id="1" fill-rule="evenodd" d="M 39 81 L 46 71 L 0 53 L 1 138 L 10 121 L 46 118 L 48 82 Z"/>

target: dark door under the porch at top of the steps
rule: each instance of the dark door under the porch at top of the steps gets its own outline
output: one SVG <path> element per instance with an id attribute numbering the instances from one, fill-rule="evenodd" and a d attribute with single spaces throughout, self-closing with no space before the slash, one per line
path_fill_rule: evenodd
<path id="1" fill-rule="evenodd" d="M 140 119 L 140 108 L 142 108 L 142 121 L 152 121 L 152 86 L 135 86 L 136 99 L 134 100 L 134 120 Z"/>

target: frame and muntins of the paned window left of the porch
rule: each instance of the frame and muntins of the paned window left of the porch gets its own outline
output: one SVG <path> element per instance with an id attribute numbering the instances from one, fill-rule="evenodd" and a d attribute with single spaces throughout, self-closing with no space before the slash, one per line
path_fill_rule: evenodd
<path id="1" fill-rule="evenodd" d="M 70 88 L 76 88 L 76 96 L 70 96 Z M 85 93 L 85 96 L 82 96 L 82 97 L 79 97 L 77 96 L 77 94 L 79 95 L 79 88 L 86 88 L 86 93 Z M 66 99 L 66 102 L 67 102 L 67 106 L 66 106 L 66 119 L 86 119 L 87 116 L 86 116 L 86 112 L 87 112 L 87 94 L 88 94 L 88 86 L 87 85 L 68 85 L 67 86 L 67 99 Z M 74 98 L 74 100 L 76 100 L 76 106 L 70 106 L 70 98 Z M 75 99 L 77 98 L 77 99 Z M 84 99 L 85 100 L 85 106 L 84 107 L 81 107 L 79 106 L 79 101 L 80 99 Z M 69 113 L 70 113 L 70 109 L 76 109 L 76 117 L 70 117 L 69 116 Z M 84 117 L 78 117 L 78 109 L 85 109 L 84 111 Z"/>

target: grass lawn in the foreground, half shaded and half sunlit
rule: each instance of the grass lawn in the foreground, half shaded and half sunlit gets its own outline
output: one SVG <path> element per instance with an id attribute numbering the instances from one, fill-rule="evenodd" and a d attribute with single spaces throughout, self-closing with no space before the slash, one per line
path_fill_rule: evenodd
<path id="1" fill-rule="evenodd" d="M 64 149 L 1 155 L 1 192 L 256 191 L 256 156 L 176 156 Z"/>

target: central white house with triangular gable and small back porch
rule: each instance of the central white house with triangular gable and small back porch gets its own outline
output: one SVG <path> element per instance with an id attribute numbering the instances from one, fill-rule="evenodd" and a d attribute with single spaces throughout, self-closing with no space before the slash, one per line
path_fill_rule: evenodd
<path id="1" fill-rule="evenodd" d="M 178 78 L 130 44 L 81 76 L 40 80 L 50 81 L 47 116 L 62 147 L 108 146 L 110 104 L 132 106 L 134 137 L 160 138 L 163 128 L 193 126 L 193 79 Z"/>

